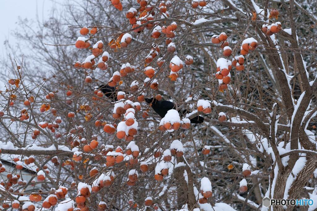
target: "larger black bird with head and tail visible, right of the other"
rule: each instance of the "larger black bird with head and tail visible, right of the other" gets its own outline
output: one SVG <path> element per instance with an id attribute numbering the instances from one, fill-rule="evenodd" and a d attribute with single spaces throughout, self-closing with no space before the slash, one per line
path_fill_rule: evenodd
<path id="1" fill-rule="evenodd" d="M 162 118 L 166 115 L 167 111 L 171 109 L 175 109 L 174 103 L 170 101 L 166 101 L 166 100 L 159 101 L 153 97 L 151 99 L 145 98 L 145 101 L 147 103 L 152 103 L 152 108 Z M 183 109 L 183 110 L 178 110 L 178 113 L 180 114 L 180 116 L 185 116 L 186 114 L 190 112 L 188 112 L 186 109 Z M 194 123 L 194 124 L 201 124 L 203 122 L 204 122 L 204 117 L 202 116 L 195 116 L 194 118 L 191 119 L 191 123 Z"/>

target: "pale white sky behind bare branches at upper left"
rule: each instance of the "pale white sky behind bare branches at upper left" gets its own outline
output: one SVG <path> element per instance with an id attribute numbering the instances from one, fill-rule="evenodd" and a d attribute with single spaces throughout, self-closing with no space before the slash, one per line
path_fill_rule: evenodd
<path id="1" fill-rule="evenodd" d="M 52 8 L 58 8 L 58 3 L 65 0 L 0 0 L 0 56 L 8 57 L 3 42 L 8 40 L 11 45 L 17 42 L 11 35 L 13 30 L 18 29 L 18 19 L 33 19 L 36 17 L 42 21 L 49 17 L 49 11 Z M 27 49 L 25 49 L 27 51 Z M 23 51 L 23 52 L 25 52 Z M 25 52 L 24 54 L 26 54 Z M 1 70 L 0 70 L 1 73 Z M 3 73 L 3 72 L 2 72 Z M 0 82 L 0 90 L 3 88 L 3 83 Z"/>

